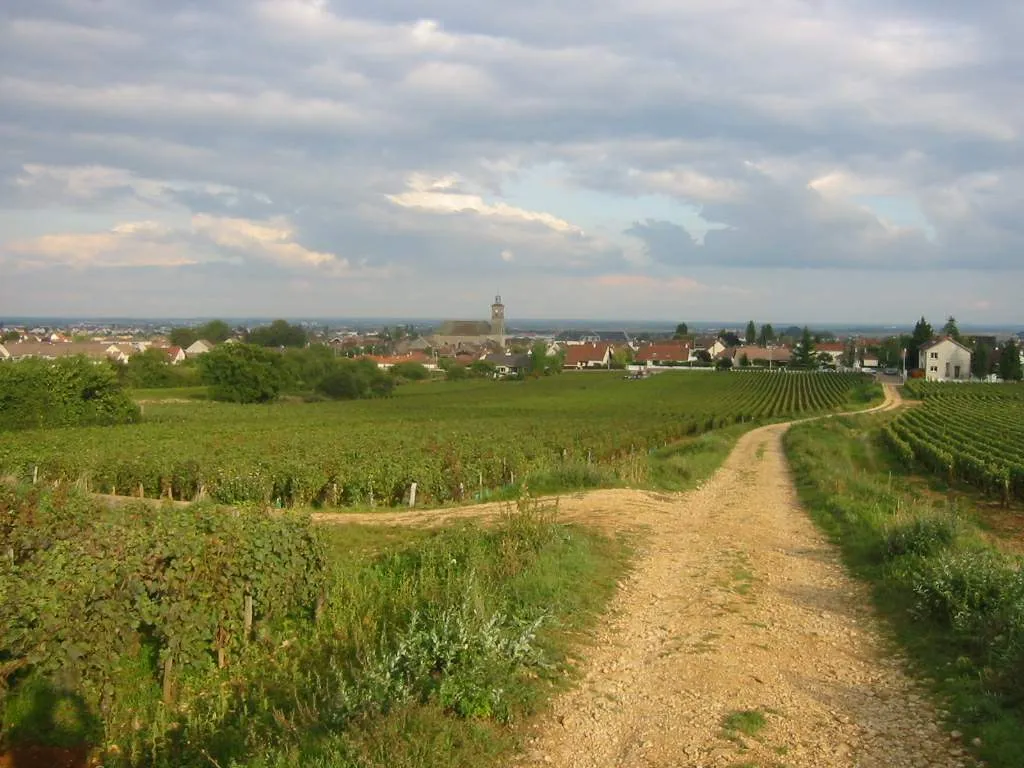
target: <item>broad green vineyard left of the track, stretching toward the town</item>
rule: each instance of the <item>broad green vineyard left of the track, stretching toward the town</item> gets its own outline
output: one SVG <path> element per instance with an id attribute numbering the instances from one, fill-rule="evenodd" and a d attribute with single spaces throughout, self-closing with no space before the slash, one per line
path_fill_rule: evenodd
<path id="1" fill-rule="evenodd" d="M 140 424 L 5 435 L 0 475 L 99 493 L 279 506 L 482 498 L 601 467 L 642 481 L 648 452 L 739 422 L 866 402 L 845 374 L 617 374 L 407 385 L 352 402 L 148 403 Z"/>

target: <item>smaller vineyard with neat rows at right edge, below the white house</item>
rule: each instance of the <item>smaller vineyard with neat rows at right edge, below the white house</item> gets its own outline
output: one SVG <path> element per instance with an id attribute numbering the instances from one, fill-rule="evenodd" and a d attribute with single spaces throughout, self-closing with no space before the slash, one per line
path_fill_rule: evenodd
<path id="1" fill-rule="evenodd" d="M 906 392 L 923 404 L 884 430 L 905 465 L 1024 500 L 1024 387 L 911 382 Z"/>

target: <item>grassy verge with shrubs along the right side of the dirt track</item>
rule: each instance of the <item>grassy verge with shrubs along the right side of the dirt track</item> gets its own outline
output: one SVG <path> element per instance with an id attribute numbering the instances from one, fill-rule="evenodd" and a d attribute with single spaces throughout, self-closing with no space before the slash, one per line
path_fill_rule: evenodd
<path id="1" fill-rule="evenodd" d="M 946 702 L 949 727 L 988 765 L 1019 766 L 1022 560 L 993 546 L 963 502 L 922 494 L 901 476 L 878 439 L 879 423 L 794 427 L 785 447 L 801 499 L 852 571 L 871 585 L 914 671 Z"/>

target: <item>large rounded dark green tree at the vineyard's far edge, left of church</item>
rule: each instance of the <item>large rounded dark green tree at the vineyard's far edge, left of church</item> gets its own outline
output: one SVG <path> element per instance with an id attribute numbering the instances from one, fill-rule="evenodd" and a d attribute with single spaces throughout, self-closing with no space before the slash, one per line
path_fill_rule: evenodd
<path id="1" fill-rule="evenodd" d="M 285 361 L 255 344 L 221 344 L 199 358 L 210 396 L 228 402 L 268 402 L 286 383 Z"/>

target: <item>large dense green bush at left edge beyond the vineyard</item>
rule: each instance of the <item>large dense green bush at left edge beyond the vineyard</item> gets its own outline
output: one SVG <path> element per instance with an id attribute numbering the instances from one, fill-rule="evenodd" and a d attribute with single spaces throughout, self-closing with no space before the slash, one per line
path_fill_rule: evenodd
<path id="1" fill-rule="evenodd" d="M 0 430 L 124 424 L 138 407 L 105 364 L 85 357 L 0 365 Z"/>

